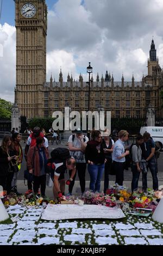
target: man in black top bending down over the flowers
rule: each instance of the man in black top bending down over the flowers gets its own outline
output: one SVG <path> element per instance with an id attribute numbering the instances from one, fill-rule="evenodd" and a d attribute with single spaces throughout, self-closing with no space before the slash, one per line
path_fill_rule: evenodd
<path id="1" fill-rule="evenodd" d="M 50 168 L 51 178 L 54 182 L 54 199 L 62 200 L 65 194 L 66 169 L 71 170 L 70 179 L 66 181 L 66 185 L 70 185 L 76 174 L 76 160 L 70 156 L 70 152 L 66 148 L 54 149 L 51 152 L 51 157 L 47 166 Z"/>

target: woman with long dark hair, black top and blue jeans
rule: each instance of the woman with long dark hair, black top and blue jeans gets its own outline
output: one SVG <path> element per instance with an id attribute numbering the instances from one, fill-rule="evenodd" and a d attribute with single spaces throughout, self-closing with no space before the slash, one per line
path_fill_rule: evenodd
<path id="1" fill-rule="evenodd" d="M 105 154 L 100 131 L 91 132 L 91 140 L 87 142 L 85 160 L 90 174 L 90 190 L 100 192 L 101 179 L 105 168 Z"/>

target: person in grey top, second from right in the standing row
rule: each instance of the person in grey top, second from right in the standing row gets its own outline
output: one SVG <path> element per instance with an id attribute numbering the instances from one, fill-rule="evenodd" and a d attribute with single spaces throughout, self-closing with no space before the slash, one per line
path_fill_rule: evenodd
<path id="1" fill-rule="evenodd" d="M 143 136 L 137 135 L 136 143 L 131 144 L 129 149 L 129 156 L 131 160 L 131 172 L 133 173 L 133 179 L 131 182 L 132 192 L 137 190 L 139 176 L 141 172 L 141 159 L 142 159 L 142 150 L 140 145 L 143 143 Z"/>

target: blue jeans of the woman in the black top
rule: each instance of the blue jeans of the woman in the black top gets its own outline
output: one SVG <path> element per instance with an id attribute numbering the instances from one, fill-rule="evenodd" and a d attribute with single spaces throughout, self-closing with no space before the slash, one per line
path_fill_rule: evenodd
<path id="1" fill-rule="evenodd" d="M 88 171 L 90 174 L 90 190 L 93 192 L 100 192 L 100 185 L 102 175 L 104 173 L 105 164 L 88 164 Z"/>

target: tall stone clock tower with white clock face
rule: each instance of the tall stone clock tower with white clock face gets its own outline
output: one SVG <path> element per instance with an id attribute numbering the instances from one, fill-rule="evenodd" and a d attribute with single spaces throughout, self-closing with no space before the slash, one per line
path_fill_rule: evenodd
<path id="1" fill-rule="evenodd" d="M 15 102 L 21 115 L 42 116 L 46 82 L 47 5 L 45 0 L 14 0 L 16 26 Z"/>

